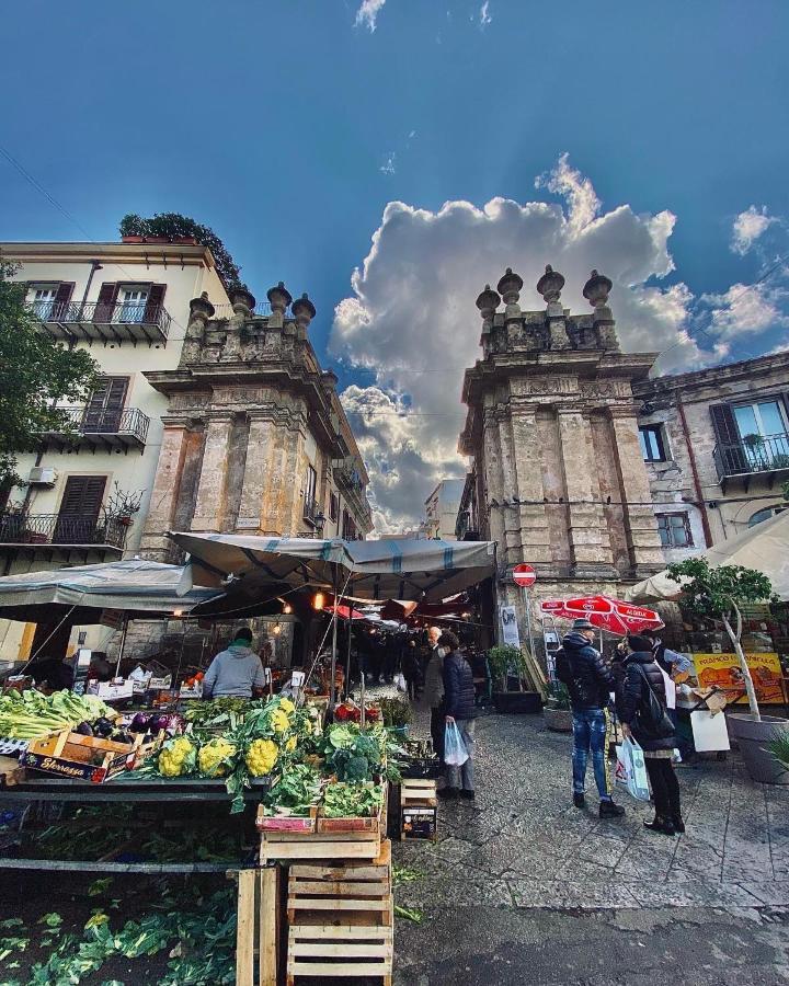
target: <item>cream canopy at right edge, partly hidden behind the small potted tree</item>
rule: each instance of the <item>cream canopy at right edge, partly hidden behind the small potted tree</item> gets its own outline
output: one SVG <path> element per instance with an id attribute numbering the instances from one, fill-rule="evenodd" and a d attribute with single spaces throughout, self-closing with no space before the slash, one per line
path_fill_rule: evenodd
<path id="1" fill-rule="evenodd" d="M 700 557 L 710 565 L 743 565 L 764 572 L 776 595 L 784 603 L 789 601 L 789 511 L 708 548 Z M 663 571 L 636 583 L 626 595 L 633 603 L 660 603 L 677 599 L 679 593 L 677 583 Z"/>

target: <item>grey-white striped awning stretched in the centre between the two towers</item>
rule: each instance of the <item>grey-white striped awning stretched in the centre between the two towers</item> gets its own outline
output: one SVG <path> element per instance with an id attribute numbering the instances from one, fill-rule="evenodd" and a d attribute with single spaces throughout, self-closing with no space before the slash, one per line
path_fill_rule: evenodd
<path id="1" fill-rule="evenodd" d="M 274 585 L 344 589 L 357 599 L 438 601 L 493 574 L 494 541 L 265 538 L 230 534 L 171 534 L 190 553 L 201 585 L 255 573 Z"/>

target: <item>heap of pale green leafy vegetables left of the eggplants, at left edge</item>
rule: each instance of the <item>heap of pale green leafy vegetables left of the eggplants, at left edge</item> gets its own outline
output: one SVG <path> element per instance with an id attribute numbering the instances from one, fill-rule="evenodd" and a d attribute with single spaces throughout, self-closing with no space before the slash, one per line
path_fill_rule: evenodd
<path id="1" fill-rule="evenodd" d="M 93 734 L 91 723 L 108 721 L 113 710 L 93 695 L 72 691 L 8 691 L 0 696 L 0 736 L 11 740 L 37 740 L 58 730 L 80 726 L 85 736 Z M 88 729 L 83 727 L 83 724 Z M 110 724 L 112 730 L 112 724 Z"/>

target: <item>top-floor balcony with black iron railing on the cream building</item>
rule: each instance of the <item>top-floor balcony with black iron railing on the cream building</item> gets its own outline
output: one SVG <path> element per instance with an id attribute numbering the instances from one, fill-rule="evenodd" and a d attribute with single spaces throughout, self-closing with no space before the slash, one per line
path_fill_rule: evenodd
<path id="1" fill-rule="evenodd" d="M 28 301 L 25 309 L 38 319 L 47 335 L 61 342 L 162 343 L 167 342 L 171 322 L 162 305 Z"/>

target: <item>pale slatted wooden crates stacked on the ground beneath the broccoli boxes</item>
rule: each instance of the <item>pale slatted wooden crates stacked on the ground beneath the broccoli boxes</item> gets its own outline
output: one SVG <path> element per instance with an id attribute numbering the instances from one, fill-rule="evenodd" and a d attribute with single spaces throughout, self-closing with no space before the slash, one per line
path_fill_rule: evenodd
<path id="1" fill-rule="evenodd" d="M 287 983 L 297 976 L 380 976 L 391 983 L 391 842 L 371 862 L 290 867 Z"/>

